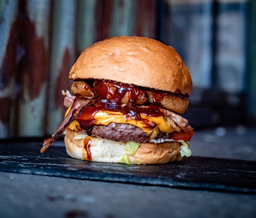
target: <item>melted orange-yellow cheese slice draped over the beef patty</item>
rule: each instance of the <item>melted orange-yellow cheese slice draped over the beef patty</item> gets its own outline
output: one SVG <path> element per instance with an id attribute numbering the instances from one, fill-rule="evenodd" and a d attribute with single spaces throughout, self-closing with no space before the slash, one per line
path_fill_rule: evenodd
<path id="1" fill-rule="evenodd" d="M 65 116 L 68 114 L 69 110 L 70 108 L 67 109 Z M 94 114 L 93 124 L 104 126 L 107 126 L 110 123 L 131 124 L 133 126 L 141 128 L 148 135 L 151 135 L 153 130 L 160 130 L 161 132 L 166 132 L 167 134 L 170 132 L 174 132 L 174 129 L 171 127 L 170 123 L 166 122 L 163 116 L 146 116 L 141 113 L 140 117 L 141 120 L 137 120 L 125 117 L 123 113 L 118 111 L 102 110 Z M 69 125 L 69 129 L 76 131 L 82 130 L 82 128 L 76 120 L 74 120 Z"/>

